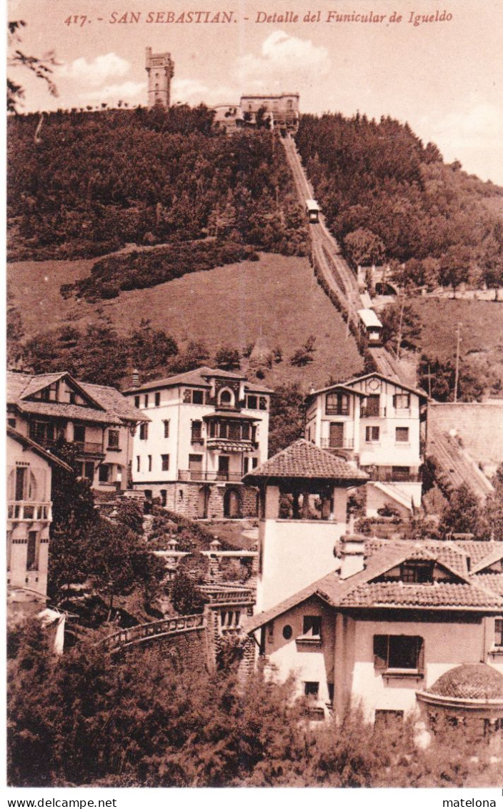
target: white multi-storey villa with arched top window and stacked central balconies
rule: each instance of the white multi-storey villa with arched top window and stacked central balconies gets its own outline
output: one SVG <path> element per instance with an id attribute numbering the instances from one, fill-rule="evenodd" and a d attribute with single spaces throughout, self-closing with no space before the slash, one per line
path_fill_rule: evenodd
<path id="1" fill-rule="evenodd" d="M 272 391 L 208 367 L 129 388 L 148 416 L 133 440 L 133 485 L 188 517 L 256 515 L 243 475 L 268 454 Z"/>

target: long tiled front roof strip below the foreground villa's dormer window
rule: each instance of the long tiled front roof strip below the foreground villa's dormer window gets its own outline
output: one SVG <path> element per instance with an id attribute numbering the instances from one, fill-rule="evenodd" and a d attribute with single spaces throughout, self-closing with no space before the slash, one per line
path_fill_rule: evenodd
<path id="1" fill-rule="evenodd" d="M 340 599 L 340 607 L 500 607 L 503 599 L 475 584 L 366 582 Z"/>

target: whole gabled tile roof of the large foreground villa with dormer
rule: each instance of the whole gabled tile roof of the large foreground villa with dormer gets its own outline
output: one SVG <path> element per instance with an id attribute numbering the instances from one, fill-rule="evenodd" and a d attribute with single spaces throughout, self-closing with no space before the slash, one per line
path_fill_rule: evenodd
<path id="1" fill-rule="evenodd" d="M 345 579 L 340 578 L 339 570 L 334 570 L 273 608 L 253 616 L 247 622 L 247 632 L 254 632 L 260 626 L 273 621 L 283 612 L 287 612 L 313 595 L 337 608 L 383 607 L 503 611 L 503 594 L 500 593 L 499 587 L 503 582 L 495 581 L 497 586 L 490 587 L 488 586 L 488 576 L 484 576 L 484 582 L 482 582 L 480 576 L 471 577 L 462 574 L 460 572 L 463 565 L 461 558 L 458 565 L 448 565 L 445 554 L 442 558 L 442 545 L 444 544 L 433 541 L 414 543 L 406 540 L 388 540 L 374 553 L 372 553 L 372 546 L 366 544 L 366 552 L 370 552 L 371 555 L 366 557 L 364 570 Z M 453 549 L 450 549 L 450 553 L 453 553 Z M 459 556 L 463 556 L 461 551 Z M 414 557 L 433 558 L 438 564 L 448 567 L 458 581 L 425 584 L 376 581 L 389 570 Z"/>

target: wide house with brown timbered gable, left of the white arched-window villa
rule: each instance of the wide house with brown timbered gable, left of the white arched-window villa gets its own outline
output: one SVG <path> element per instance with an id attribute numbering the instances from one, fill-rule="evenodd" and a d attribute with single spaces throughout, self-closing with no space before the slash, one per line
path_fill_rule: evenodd
<path id="1" fill-rule="evenodd" d="M 24 437 L 51 450 L 58 438 L 73 443 L 82 477 L 95 493 L 128 488 L 133 432 L 148 416 L 115 388 L 80 382 L 65 371 L 7 374 L 7 421 Z"/>

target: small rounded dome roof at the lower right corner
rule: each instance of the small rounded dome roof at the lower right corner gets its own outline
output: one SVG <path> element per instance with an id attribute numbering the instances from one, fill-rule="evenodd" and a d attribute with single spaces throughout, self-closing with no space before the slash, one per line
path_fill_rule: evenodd
<path id="1" fill-rule="evenodd" d="M 439 697 L 503 700 L 503 675 L 485 663 L 471 663 L 446 671 L 428 690 Z"/>

